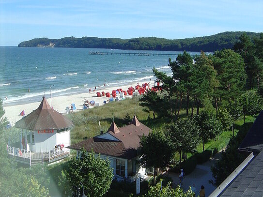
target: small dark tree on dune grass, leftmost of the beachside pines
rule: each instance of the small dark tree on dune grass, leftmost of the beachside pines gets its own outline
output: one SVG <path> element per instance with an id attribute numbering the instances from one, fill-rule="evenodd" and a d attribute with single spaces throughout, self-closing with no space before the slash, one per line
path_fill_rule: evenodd
<path id="1" fill-rule="evenodd" d="M 157 95 L 157 92 L 155 91 L 147 91 L 146 94 L 144 94 L 141 98 L 139 98 L 139 105 L 147 107 L 150 111 L 153 111 L 153 116 L 155 120 L 155 112 L 158 111 L 159 103 L 160 103 L 160 97 Z"/>

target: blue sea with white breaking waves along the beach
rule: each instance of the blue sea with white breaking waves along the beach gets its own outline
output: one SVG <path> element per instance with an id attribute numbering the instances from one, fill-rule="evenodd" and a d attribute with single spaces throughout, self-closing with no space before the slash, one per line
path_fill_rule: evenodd
<path id="1" fill-rule="evenodd" d="M 160 53 L 164 56 L 90 55 L 92 51 Z M 4 106 L 10 106 L 41 101 L 50 91 L 52 96 L 60 96 L 89 92 L 90 88 L 93 90 L 104 84 L 121 87 L 140 83 L 144 78 L 154 80 L 153 67 L 170 75 L 169 57 L 165 54 L 178 53 L 182 52 L 0 47 L 0 98 Z M 170 58 L 175 60 L 176 57 Z"/>

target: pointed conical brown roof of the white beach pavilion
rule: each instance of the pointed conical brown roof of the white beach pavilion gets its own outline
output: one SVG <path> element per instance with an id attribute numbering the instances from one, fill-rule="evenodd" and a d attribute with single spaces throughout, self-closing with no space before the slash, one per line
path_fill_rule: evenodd
<path id="1" fill-rule="evenodd" d="M 15 127 L 28 130 L 62 129 L 74 126 L 73 122 L 52 109 L 43 97 L 39 107 L 15 123 Z"/>

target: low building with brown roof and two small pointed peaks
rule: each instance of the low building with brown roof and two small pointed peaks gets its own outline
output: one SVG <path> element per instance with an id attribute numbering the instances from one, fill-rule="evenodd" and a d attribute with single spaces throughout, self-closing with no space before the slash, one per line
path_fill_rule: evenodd
<path id="1" fill-rule="evenodd" d="M 114 177 L 117 180 L 144 177 L 145 168 L 138 164 L 139 141 L 142 135 L 147 136 L 150 128 L 138 121 L 136 116 L 127 126 L 118 128 L 115 122 L 112 122 L 108 131 L 99 136 L 81 141 L 71 145 L 68 148 L 80 152 L 81 148 L 89 152 L 93 149 L 95 153 L 100 153 L 102 159 L 108 159 L 110 167 L 113 168 Z"/>

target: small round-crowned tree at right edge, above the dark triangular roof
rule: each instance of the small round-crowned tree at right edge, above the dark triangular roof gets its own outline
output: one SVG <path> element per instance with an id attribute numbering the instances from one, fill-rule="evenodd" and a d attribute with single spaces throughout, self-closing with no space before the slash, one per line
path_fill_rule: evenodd
<path id="1" fill-rule="evenodd" d="M 262 108 L 262 98 L 261 96 L 253 90 L 244 92 L 240 98 L 241 104 L 243 106 L 244 123 L 246 115 L 253 115 L 258 113 Z"/>

